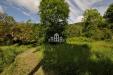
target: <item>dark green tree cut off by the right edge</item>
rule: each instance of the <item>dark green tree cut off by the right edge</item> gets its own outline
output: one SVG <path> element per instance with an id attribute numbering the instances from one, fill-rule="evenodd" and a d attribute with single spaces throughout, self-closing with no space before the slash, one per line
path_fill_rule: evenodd
<path id="1" fill-rule="evenodd" d="M 108 7 L 107 11 L 104 14 L 104 18 L 107 21 L 108 27 L 113 29 L 113 3 Z"/>

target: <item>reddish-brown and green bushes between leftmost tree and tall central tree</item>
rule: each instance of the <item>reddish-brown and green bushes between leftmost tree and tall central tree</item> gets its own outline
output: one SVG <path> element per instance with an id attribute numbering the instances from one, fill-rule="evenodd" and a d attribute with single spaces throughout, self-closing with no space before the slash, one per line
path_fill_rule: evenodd
<path id="1" fill-rule="evenodd" d="M 20 44 L 39 42 L 39 25 L 20 23 L 12 28 L 13 41 Z"/>

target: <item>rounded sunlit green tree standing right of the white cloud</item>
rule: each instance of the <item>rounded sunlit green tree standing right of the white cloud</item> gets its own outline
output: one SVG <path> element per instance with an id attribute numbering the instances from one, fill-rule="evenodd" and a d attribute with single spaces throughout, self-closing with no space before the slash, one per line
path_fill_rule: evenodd
<path id="1" fill-rule="evenodd" d="M 97 34 L 99 27 L 103 24 L 103 17 L 96 9 L 87 9 L 83 21 L 85 36 L 92 37 Z"/>

